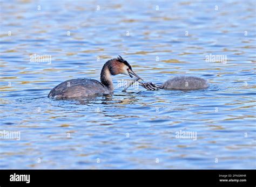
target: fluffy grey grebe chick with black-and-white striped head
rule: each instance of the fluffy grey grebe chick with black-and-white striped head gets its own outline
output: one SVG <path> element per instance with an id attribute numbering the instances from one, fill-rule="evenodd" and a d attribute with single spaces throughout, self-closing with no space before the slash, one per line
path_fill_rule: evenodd
<path id="1" fill-rule="evenodd" d="M 198 90 L 208 87 L 207 80 L 194 76 L 177 76 L 170 78 L 162 85 L 157 85 L 152 82 L 140 83 L 147 90 Z"/>

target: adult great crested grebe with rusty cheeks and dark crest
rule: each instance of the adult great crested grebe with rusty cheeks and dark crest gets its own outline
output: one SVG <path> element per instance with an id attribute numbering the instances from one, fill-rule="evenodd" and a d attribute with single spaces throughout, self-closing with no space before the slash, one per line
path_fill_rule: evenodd
<path id="1" fill-rule="evenodd" d="M 54 87 L 50 92 L 49 98 L 57 99 L 72 99 L 83 98 L 98 94 L 111 94 L 114 90 L 111 75 L 124 74 L 130 76 L 136 75 L 130 64 L 121 56 L 117 59 L 107 61 L 100 73 L 100 82 L 89 78 L 76 78 L 60 83 Z"/>

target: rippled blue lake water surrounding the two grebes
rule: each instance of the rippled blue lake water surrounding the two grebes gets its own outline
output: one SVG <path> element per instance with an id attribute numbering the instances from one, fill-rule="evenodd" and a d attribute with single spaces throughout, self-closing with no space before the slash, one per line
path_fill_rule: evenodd
<path id="1" fill-rule="evenodd" d="M 0 6 L 0 169 L 255 169 L 255 1 Z M 210 87 L 122 92 L 131 78 L 117 75 L 112 96 L 47 98 L 65 80 L 99 80 L 117 55 L 145 81 Z M 14 131 L 20 140 L 3 138 Z"/>

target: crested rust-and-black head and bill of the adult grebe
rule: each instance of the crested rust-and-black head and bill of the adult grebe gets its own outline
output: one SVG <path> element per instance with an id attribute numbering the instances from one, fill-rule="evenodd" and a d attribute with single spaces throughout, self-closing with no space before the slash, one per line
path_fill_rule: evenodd
<path id="1" fill-rule="evenodd" d="M 120 55 L 117 57 L 117 59 L 112 59 L 110 61 L 109 70 L 111 75 L 124 74 L 130 76 L 131 78 L 133 76 L 136 76 L 137 78 L 143 81 L 142 78 L 140 78 L 136 73 L 134 73 L 131 65 L 126 60 L 124 60 Z"/>

